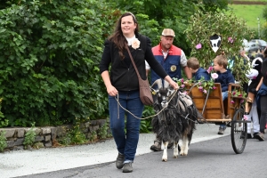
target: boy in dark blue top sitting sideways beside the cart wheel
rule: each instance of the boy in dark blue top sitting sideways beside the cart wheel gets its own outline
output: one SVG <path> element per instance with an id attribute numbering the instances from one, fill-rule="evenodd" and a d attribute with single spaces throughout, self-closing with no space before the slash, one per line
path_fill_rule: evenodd
<path id="1" fill-rule="evenodd" d="M 220 83 L 222 87 L 223 101 L 228 98 L 228 85 L 235 83 L 235 78 L 231 71 L 227 69 L 228 60 L 225 55 L 219 55 L 214 59 L 214 70 L 218 77 L 214 80 L 215 83 Z M 226 125 L 220 125 L 218 134 L 224 134 Z"/>

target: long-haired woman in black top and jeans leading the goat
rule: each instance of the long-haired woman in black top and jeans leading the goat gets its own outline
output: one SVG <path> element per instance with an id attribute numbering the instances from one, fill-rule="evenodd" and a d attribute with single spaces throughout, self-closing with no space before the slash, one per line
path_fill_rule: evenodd
<path id="1" fill-rule="evenodd" d="M 151 51 L 150 38 L 139 34 L 134 14 L 125 12 L 121 15 L 114 33 L 104 43 L 100 72 L 109 94 L 110 128 L 118 151 L 116 166 L 118 169 L 123 168 L 123 173 L 131 173 L 139 140 L 138 117 L 142 117 L 144 105 L 140 99 L 138 77 L 126 45 L 134 57 L 142 79 L 146 78 L 146 59 L 159 77 L 164 78 L 174 89 L 177 90 L 179 87 L 155 59 Z"/>

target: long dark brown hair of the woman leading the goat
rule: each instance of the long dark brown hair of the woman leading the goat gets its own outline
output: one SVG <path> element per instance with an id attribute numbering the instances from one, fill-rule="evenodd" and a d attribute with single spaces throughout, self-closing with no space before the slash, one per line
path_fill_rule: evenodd
<path id="1" fill-rule="evenodd" d="M 138 34 L 138 31 L 139 31 L 138 22 L 134 16 L 134 14 L 131 12 L 125 12 L 117 20 L 113 34 L 111 36 L 109 36 L 109 40 L 113 41 L 113 43 L 116 44 L 116 46 L 118 48 L 118 54 L 121 57 L 121 60 L 123 60 L 125 58 L 123 51 L 125 49 L 125 44 L 127 43 L 127 40 L 126 40 L 125 36 L 123 35 L 122 30 L 121 30 L 121 19 L 123 17 L 129 16 L 129 15 L 133 17 L 134 23 L 136 24 L 134 34 L 135 35 Z"/>

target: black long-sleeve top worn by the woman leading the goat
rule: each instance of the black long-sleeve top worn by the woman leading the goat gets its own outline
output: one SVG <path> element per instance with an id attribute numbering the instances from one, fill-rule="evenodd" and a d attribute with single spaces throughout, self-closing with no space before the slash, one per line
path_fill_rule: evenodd
<path id="1" fill-rule="evenodd" d="M 153 69 L 159 77 L 165 78 L 167 76 L 166 71 L 154 58 L 151 51 L 150 38 L 139 34 L 136 35 L 136 38 L 141 42 L 140 47 L 134 49 L 132 46 L 129 46 L 129 49 L 142 79 L 146 78 L 145 60 L 148 61 L 150 68 Z M 118 49 L 113 42 L 106 40 L 104 45 L 100 72 L 109 71 L 109 64 L 111 63 L 109 75 L 111 84 L 116 87 L 118 91 L 138 90 L 138 77 L 128 52 L 126 50 L 124 51 L 125 59 L 121 60 Z"/>

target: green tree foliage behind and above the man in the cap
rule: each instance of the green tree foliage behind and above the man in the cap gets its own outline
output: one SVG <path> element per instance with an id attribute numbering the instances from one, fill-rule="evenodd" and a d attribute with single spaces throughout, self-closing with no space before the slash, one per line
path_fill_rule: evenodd
<path id="1" fill-rule="evenodd" d="M 151 38 L 152 44 L 159 43 L 159 36 L 164 28 L 173 28 L 175 32 L 174 45 L 190 54 L 184 30 L 187 28 L 190 16 L 198 10 L 214 12 L 227 8 L 229 0 L 134 0 L 131 4 L 125 0 L 107 0 L 114 8 L 133 12 L 141 22 L 141 33 Z M 113 3 L 112 3 L 113 2 Z M 142 19 L 145 17 L 145 19 Z M 151 30 L 148 30 L 151 29 Z"/>

